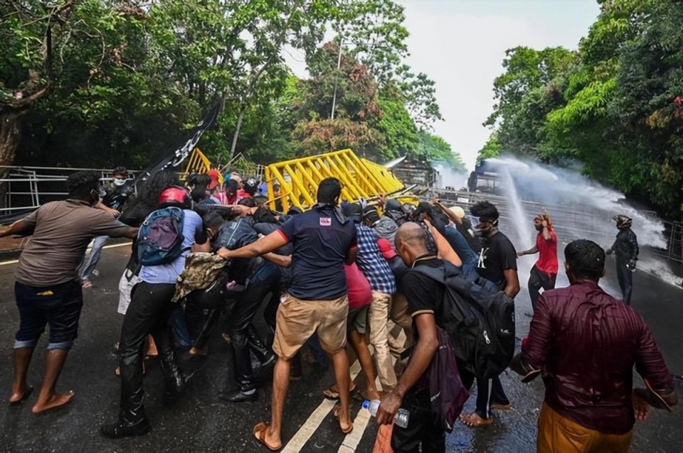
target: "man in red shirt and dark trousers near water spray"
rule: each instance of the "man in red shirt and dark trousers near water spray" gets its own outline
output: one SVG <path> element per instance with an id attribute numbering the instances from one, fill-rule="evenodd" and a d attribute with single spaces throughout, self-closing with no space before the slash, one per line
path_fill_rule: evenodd
<path id="1" fill-rule="evenodd" d="M 539 260 L 531 268 L 531 275 L 529 275 L 529 297 L 531 297 L 531 307 L 536 311 L 536 302 L 541 297 L 539 290 L 543 288 L 547 291 L 555 288 L 558 266 L 557 235 L 553 230 L 550 215 L 544 212 L 534 217 L 534 228 L 539 231 L 536 236 L 536 246 L 517 253 L 517 256 L 539 253 Z"/>

